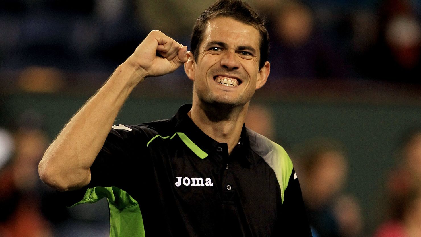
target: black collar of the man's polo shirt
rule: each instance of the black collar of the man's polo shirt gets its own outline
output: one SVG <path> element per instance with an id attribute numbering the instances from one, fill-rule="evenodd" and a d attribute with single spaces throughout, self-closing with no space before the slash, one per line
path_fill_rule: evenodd
<path id="1" fill-rule="evenodd" d="M 192 104 L 184 104 L 177 111 L 176 115 L 171 118 L 171 121 L 175 125 L 176 132 L 181 132 L 186 134 L 186 136 L 192 140 L 200 149 L 206 152 L 208 155 L 214 154 L 216 148 L 221 146 L 222 143 L 215 141 L 210 136 L 206 135 L 199 127 L 192 121 L 192 119 L 187 115 L 187 113 L 192 109 Z M 223 143 L 226 145 L 226 143 Z M 240 141 L 237 146 L 234 147 L 233 152 L 235 156 L 245 157 L 248 162 L 253 162 L 253 156 L 250 149 L 250 141 L 248 138 L 248 133 L 243 124 Z"/>

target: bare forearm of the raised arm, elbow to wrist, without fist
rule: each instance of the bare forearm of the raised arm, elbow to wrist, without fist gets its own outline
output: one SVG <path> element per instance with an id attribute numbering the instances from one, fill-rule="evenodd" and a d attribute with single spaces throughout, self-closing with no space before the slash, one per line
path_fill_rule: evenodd
<path id="1" fill-rule="evenodd" d="M 77 189 L 91 180 L 90 167 L 101 150 L 125 100 L 143 80 L 134 67 L 121 64 L 102 88 L 72 117 L 45 151 L 40 178 L 60 191 Z"/>

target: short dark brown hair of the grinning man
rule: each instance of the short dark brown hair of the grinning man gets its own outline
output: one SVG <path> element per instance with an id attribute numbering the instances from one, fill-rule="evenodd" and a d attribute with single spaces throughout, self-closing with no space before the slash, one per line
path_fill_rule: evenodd
<path id="1" fill-rule="evenodd" d="M 206 23 L 210 19 L 214 19 L 218 16 L 231 17 L 244 24 L 255 27 L 260 32 L 260 70 L 267 61 L 269 54 L 269 34 L 265 27 L 266 21 L 264 17 L 253 10 L 248 3 L 244 3 L 241 0 L 218 0 L 200 14 L 193 27 L 192 41 L 190 43 L 190 50 L 192 51 L 195 60 L 197 61 L 197 48 L 203 41 L 203 32 L 205 32 Z"/>

